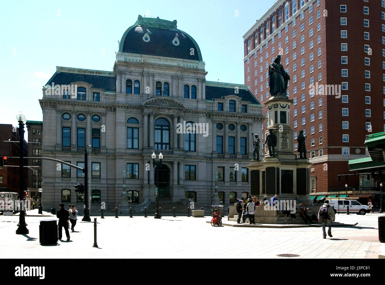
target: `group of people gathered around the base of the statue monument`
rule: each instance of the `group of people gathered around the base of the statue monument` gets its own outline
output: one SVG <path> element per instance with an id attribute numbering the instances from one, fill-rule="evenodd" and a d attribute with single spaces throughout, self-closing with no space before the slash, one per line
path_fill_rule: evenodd
<path id="1" fill-rule="evenodd" d="M 243 200 L 239 200 L 238 204 L 236 206 L 236 210 L 238 213 L 237 223 L 246 223 L 246 219 L 249 218 L 249 224 L 250 225 L 252 225 L 252 224 L 255 225 L 255 207 L 258 207 L 261 205 L 263 206 L 263 205 L 266 205 L 268 203 L 270 204 L 270 206 L 274 206 L 276 204 L 279 205 L 278 195 L 274 195 L 273 197 L 271 197 L 270 201 L 267 198 L 264 198 L 262 204 L 258 201 L 258 199 L 256 197 L 251 198 L 251 195 L 249 195 L 249 197 L 245 201 L 243 207 L 242 207 L 241 203 L 243 203 Z M 303 202 L 301 200 L 301 198 L 299 198 L 298 196 L 296 196 L 296 199 L 295 199 L 295 206 L 296 206 L 296 209 L 297 208 L 300 209 L 300 216 L 303 218 L 305 223 L 311 223 L 312 218 L 308 216 L 309 208 L 304 207 L 305 202 Z M 288 208 L 286 208 L 284 210 L 284 209 L 280 209 L 278 207 L 278 213 L 285 214 L 285 217 L 288 217 L 290 215 L 291 220 L 296 221 L 295 213 L 291 213 L 290 209 L 288 209 Z M 242 222 L 241 222 L 241 217 L 242 217 Z"/>

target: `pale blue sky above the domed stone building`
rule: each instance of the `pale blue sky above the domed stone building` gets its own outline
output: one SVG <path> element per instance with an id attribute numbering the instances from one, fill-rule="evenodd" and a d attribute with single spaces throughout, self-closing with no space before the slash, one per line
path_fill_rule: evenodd
<path id="1" fill-rule="evenodd" d="M 201 48 L 206 80 L 243 84 L 242 36 L 274 2 L 0 0 L 0 123 L 16 125 L 19 110 L 42 120 L 38 100 L 56 66 L 112 71 L 139 14 L 177 20 Z"/>

